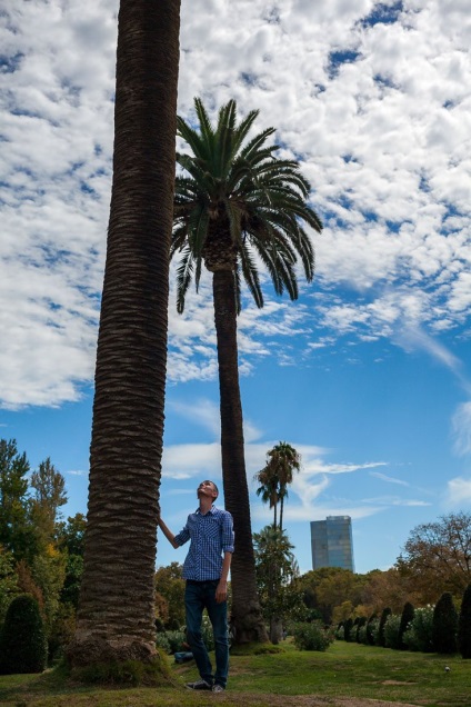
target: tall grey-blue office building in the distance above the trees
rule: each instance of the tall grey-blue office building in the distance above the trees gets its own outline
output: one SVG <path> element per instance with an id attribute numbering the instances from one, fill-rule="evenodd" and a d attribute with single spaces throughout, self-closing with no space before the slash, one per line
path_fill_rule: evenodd
<path id="1" fill-rule="evenodd" d="M 354 572 L 352 519 L 328 516 L 311 522 L 312 568 L 341 567 Z"/>

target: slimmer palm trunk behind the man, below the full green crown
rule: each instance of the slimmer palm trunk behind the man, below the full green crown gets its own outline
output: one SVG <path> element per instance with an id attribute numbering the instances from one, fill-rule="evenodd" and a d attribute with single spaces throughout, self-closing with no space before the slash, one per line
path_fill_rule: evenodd
<path id="1" fill-rule="evenodd" d="M 221 399 L 221 454 L 226 508 L 232 514 L 236 551 L 231 565 L 231 625 L 238 644 L 268 640 L 257 593 L 249 488 L 239 387 L 237 307 L 231 270 L 213 272 L 214 323 Z"/>

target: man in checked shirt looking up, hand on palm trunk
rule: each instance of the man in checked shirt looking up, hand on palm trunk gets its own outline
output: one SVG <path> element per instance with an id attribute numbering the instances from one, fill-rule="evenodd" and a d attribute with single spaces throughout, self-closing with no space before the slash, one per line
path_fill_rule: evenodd
<path id="1" fill-rule="evenodd" d="M 173 535 L 159 518 L 159 528 L 174 547 L 190 540 L 190 549 L 183 565 L 184 607 L 187 611 L 187 639 L 190 644 L 201 679 L 188 683 L 193 690 L 226 689 L 229 671 L 228 639 L 228 575 L 234 549 L 232 516 L 217 508 L 218 487 L 213 481 L 202 481 L 197 490 L 199 508 L 188 516 L 187 525 Z M 203 609 L 208 610 L 214 634 L 216 674 L 201 635 Z"/>

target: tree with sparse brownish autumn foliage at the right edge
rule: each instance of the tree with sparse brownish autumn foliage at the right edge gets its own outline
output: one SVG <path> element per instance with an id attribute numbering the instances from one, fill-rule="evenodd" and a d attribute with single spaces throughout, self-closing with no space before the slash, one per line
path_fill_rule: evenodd
<path id="1" fill-rule="evenodd" d="M 471 514 L 442 516 L 414 528 L 398 560 L 414 582 L 427 587 L 435 601 L 443 591 L 462 595 L 471 582 Z"/>

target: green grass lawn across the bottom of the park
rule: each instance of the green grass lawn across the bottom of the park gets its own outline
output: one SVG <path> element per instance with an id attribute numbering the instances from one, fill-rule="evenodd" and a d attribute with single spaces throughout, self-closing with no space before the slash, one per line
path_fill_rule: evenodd
<path id="1" fill-rule="evenodd" d="M 471 661 L 370 648 L 338 641 L 325 653 L 282 645 L 274 655 L 232 655 L 229 689 L 222 696 L 194 694 L 184 681 L 198 678 L 194 664 L 172 665 L 179 687 L 97 688 L 72 685 L 59 673 L 1 676 L 6 707 L 196 707 L 224 705 L 272 707 L 302 705 L 317 696 L 333 707 L 337 698 L 368 698 L 420 707 L 471 707 Z M 450 671 L 445 673 L 444 667 Z M 319 704 L 320 704 L 319 703 Z M 310 701 L 310 704 L 314 704 Z M 378 704 L 380 707 L 381 703 Z M 343 704 L 344 707 L 344 704 Z"/>

